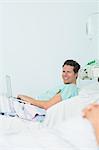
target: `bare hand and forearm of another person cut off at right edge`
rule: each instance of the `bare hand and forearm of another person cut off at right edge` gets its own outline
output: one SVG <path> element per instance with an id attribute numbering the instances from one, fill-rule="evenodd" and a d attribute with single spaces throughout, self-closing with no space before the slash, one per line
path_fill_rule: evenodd
<path id="1" fill-rule="evenodd" d="M 83 116 L 91 122 L 95 130 L 97 143 L 99 144 L 99 104 L 90 105 L 83 112 Z"/>

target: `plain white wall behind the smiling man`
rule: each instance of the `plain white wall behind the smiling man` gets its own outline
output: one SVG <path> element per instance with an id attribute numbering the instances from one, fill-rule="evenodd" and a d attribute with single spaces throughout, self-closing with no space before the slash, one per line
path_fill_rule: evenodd
<path id="1" fill-rule="evenodd" d="M 11 75 L 14 95 L 35 96 L 60 84 L 66 59 L 86 64 L 98 55 L 85 32 L 96 2 L 8 1 L 0 8 L 1 74 Z"/>

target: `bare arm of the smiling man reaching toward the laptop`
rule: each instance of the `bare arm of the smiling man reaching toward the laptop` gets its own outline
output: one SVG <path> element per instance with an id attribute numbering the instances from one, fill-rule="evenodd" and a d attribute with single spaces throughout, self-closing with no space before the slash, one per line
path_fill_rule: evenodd
<path id="1" fill-rule="evenodd" d="M 49 107 L 51 107 L 52 105 L 60 102 L 62 99 L 61 99 L 61 95 L 60 93 L 59 94 L 56 94 L 53 98 L 51 98 L 50 100 L 37 100 L 37 99 L 34 99 L 34 98 L 31 98 L 31 97 L 28 97 L 28 96 L 25 96 L 25 95 L 18 95 L 17 98 L 20 98 L 21 100 L 23 101 L 26 101 L 32 105 L 35 105 L 35 106 L 38 106 L 40 108 L 43 108 L 43 109 L 48 109 Z"/>

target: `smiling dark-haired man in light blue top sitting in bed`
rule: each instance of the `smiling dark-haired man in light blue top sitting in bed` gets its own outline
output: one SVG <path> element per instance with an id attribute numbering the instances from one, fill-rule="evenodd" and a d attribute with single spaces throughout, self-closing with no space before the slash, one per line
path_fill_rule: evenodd
<path id="1" fill-rule="evenodd" d="M 76 80 L 80 65 L 74 60 L 66 60 L 62 66 L 63 85 L 45 92 L 37 99 L 25 95 L 18 95 L 23 101 L 47 110 L 52 105 L 78 95 Z"/>

